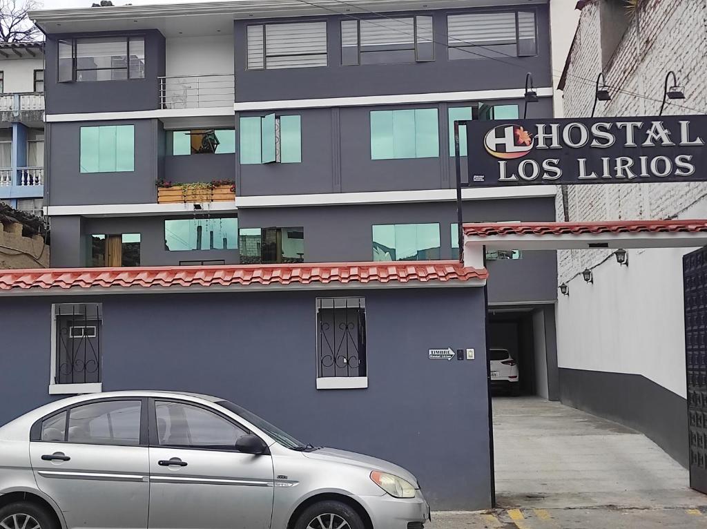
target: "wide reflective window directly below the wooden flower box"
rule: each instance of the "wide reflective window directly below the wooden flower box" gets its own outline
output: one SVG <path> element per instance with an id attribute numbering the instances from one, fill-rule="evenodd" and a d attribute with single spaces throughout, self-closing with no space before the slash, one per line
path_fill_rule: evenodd
<path id="1" fill-rule="evenodd" d="M 165 221 L 165 250 L 235 250 L 238 219 L 176 219 Z"/>

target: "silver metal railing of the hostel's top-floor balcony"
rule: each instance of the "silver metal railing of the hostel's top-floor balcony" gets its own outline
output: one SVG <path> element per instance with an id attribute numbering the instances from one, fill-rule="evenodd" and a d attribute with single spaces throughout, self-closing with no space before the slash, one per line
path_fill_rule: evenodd
<path id="1" fill-rule="evenodd" d="M 233 74 L 160 77 L 160 108 L 233 106 Z"/>

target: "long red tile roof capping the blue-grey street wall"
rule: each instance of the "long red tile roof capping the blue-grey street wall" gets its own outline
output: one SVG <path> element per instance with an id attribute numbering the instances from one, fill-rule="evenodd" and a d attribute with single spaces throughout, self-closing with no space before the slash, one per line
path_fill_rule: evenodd
<path id="1" fill-rule="evenodd" d="M 434 284 L 484 280 L 486 269 L 457 261 L 344 262 L 301 265 L 221 265 L 199 267 L 54 268 L 0 271 L 0 293 L 100 289 L 108 287 L 249 286 L 288 284 Z"/>

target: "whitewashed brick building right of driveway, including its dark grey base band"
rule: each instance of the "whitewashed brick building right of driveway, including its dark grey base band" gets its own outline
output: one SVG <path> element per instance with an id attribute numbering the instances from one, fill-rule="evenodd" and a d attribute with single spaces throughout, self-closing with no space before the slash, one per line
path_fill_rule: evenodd
<path id="1" fill-rule="evenodd" d="M 618 0 L 580 2 L 561 82 L 566 116 L 590 115 L 595 84 L 586 80 L 601 71 L 612 100 L 597 103 L 597 116 L 658 115 L 671 70 L 685 99 L 669 100 L 663 113 L 707 110 L 707 5 L 638 5 L 629 11 Z M 570 186 L 567 207 L 573 222 L 705 219 L 707 184 Z M 562 219 L 561 196 L 557 211 Z M 563 402 L 643 431 L 684 465 L 689 443 L 682 256 L 689 251 L 629 250 L 627 267 L 609 250 L 558 252 L 559 283 L 569 288 L 557 311 Z M 585 268 L 593 269 L 593 284 L 583 281 Z"/>

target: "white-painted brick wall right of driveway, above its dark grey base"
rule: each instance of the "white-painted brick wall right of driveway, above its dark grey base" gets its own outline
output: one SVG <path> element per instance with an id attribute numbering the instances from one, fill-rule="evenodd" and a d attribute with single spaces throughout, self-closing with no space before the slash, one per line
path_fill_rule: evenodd
<path id="1" fill-rule="evenodd" d="M 561 1 L 561 0 L 560 0 Z M 674 70 L 694 109 L 707 108 L 705 0 L 643 0 L 612 61 L 604 71 L 612 100 L 597 105 L 597 116 L 656 115 L 665 73 Z M 587 4 L 570 73 L 595 79 L 602 68 L 600 12 Z M 564 111 L 590 115 L 593 83 L 568 77 Z M 694 114 L 668 105 L 665 114 Z M 570 221 L 706 219 L 707 182 L 569 186 Z M 561 196 L 556 199 L 558 218 Z M 558 252 L 558 280 L 569 285 L 557 307 L 558 364 L 561 368 L 643 375 L 685 397 L 682 255 L 691 249 L 631 250 L 629 267 L 619 267 L 610 250 Z M 606 262 L 604 258 L 609 257 Z M 581 272 L 593 269 L 594 284 Z"/>

